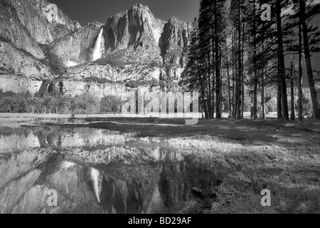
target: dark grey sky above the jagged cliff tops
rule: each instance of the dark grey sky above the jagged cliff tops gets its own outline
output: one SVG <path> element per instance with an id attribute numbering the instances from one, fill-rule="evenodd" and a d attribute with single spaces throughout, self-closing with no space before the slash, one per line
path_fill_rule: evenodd
<path id="1" fill-rule="evenodd" d="M 149 6 L 156 18 L 168 21 L 176 16 L 186 22 L 198 17 L 200 0 L 48 0 L 56 4 L 70 19 L 84 26 L 92 21 L 105 22 L 110 16 L 137 3 Z"/>

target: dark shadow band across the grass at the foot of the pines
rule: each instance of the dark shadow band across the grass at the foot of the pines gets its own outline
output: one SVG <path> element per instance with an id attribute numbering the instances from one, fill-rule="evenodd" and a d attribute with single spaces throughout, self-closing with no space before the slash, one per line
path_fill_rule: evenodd
<path id="1" fill-rule="evenodd" d="M 279 138 L 299 137 L 299 134 L 317 136 L 316 133 L 277 128 L 274 125 L 247 125 L 245 122 L 232 120 L 201 119 L 197 125 L 185 125 L 183 119 L 160 118 L 87 118 L 86 121 L 89 122 L 86 125 L 89 128 L 135 133 L 137 137 L 188 138 L 209 135 L 242 143 L 261 143 L 277 142 Z M 272 123 L 279 125 L 281 122 L 273 121 Z"/>

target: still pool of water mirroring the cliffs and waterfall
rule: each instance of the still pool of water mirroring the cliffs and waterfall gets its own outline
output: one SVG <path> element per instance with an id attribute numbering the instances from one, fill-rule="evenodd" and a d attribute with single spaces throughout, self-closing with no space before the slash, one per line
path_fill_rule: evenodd
<path id="1" fill-rule="evenodd" d="M 171 213 L 186 202 L 186 162 L 157 139 L 33 127 L 0 129 L 0 145 L 1 213 Z"/>

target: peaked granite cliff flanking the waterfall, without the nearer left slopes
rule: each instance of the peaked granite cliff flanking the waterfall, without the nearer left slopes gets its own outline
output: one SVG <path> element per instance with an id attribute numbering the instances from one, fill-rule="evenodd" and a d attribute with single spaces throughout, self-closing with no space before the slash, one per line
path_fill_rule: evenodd
<path id="1" fill-rule="evenodd" d="M 176 18 L 161 21 L 154 17 L 148 6 L 137 4 L 112 16 L 104 25 L 86 26 L 78 33 L 52 43 L 51 53 L 65 66 L 73 63 L 63 77 L 78 82 L 88 77 L 105 78 L 114 83 L 152 78 L 164 81 L 173 78 L 178 82 L 186 64 L 190 30 L 191 24 Z M 100 31 L 103 36 L 102 58 L 92 62 Z M 73 66 L 78 63 L 82 64 Z"/>

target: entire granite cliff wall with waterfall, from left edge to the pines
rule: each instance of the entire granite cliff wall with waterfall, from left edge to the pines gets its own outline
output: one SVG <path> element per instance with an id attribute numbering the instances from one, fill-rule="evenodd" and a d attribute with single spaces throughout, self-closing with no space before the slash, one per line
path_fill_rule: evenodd
<path id="1" fill-rule="evenodd" d="M 65 90 L 76 95 L 87 89 L 85 78 L 95 77 L 108 83 L 91 83 L 90 92 L 121 94 L 127 90 L 121 81 L 178 82 L 186 64 L 191 24 L 156 19 L 142 4 L 84 27 L 46 0 L 0 0 L 0 11 L 3 90 L 36 93 L 49 79 L 74 82 Z"/>

